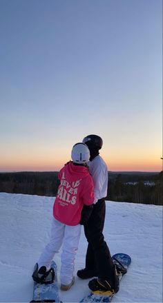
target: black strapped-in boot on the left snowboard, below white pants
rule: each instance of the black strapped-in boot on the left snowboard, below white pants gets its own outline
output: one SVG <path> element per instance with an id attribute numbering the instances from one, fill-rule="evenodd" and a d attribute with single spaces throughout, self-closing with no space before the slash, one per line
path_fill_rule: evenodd
<path id="1" fill-rule="evenodd" d="M 35 269 L 32 273 L 32 279 L 40 284 L 50 284 L 55 280 L 55 271 L 53 268 L 46 271 L 46 267 L 40 267 L 35 264 Z"/>

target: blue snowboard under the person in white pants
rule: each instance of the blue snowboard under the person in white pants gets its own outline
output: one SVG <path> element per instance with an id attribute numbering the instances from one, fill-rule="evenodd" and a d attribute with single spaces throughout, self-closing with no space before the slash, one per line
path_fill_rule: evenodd
<path id="1" fill-rule="evenodd" d="M 30 302 L 60 302 L 57 284 L 57 264 L 52 261 L 51 267 L 55 270 L 54 282 L 51 284 L 39 284 L 34 282 L 33 299 Z"/>

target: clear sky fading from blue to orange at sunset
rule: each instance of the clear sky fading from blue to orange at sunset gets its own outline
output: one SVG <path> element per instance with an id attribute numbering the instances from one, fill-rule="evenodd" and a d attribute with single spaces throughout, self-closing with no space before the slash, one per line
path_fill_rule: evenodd
<path id="1" fill-rule="evenodd" d="M 162 0 L 0 0 L 0 171 L 162 170 Z"/>

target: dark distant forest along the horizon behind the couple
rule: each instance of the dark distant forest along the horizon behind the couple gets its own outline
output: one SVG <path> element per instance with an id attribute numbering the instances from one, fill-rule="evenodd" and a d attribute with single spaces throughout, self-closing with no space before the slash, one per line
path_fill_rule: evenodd
<path id="1" fill-rule="evenodd" d="M 56 196 L 58 172 L 0 173 L 0 192 Z M 108 171 L 106 200 L 162 205 L 163 171 L 160 173 Z"/>

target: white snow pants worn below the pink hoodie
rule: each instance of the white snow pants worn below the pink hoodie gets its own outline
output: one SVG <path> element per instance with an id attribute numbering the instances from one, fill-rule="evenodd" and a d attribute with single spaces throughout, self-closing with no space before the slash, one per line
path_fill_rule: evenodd
<path id="1" fill-rule="evenodd" d="M 81 225 L 68 226 L 52 219 L 52 228 L 50 242 L 41 253 L 38 265 L 45 265 L 50 268 L 55 253 L 59 252 L 61 244 L 63 249 L 61 253 L 61 284 L 69 284 L 73 279 L 75 255 L 77 253 L 79 238 L 81 233 Z"/>

